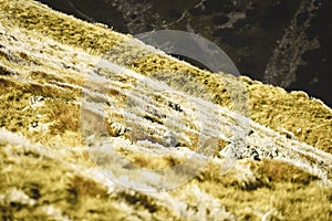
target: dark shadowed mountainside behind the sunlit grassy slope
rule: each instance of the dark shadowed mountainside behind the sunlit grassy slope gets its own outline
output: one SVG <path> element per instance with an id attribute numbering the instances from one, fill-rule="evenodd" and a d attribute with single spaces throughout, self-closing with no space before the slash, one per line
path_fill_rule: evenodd
<path id="1" fill-rule="evenodd" d="M 40 1 L 133 35 L 163 29 L 194 32 L 219 45 L 242 75 L 305 91 L 332 106 L 332 1 Z"/>

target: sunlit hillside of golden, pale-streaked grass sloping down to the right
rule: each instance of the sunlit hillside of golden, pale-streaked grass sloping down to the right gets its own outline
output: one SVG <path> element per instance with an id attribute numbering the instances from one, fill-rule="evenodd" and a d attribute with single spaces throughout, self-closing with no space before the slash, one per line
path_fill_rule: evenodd
<path id="1" fill-rule="evenodd" d="M 0 10 L 3 220 L 331 219 L 321 101 L 32 0 Z"/>

